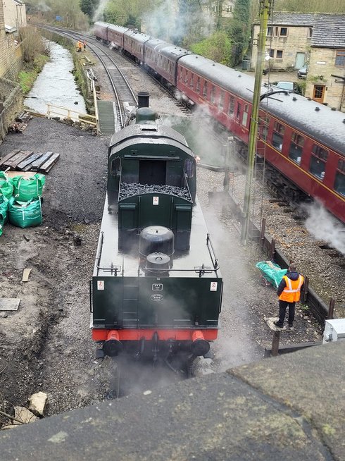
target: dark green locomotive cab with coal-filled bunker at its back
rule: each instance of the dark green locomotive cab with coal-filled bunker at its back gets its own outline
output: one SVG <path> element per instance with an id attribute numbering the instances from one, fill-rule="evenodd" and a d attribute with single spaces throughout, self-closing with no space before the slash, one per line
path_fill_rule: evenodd
<path id="1" fill-rule="evenodd" d="M 172 230 L 177 250 L 188 250 L 196 160 L 179 133 L 155 121 L 151 109 L 137 109 L 137 123 L 116 133 L 109 149 L 107 188 L 118 209 L 118 245 L 135 247 L 142 229 L 156 225 Z"/>

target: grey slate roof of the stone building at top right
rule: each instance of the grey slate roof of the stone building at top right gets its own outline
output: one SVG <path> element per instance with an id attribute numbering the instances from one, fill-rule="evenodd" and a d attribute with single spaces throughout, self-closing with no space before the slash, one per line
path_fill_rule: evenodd
<path id="1" fill-rule="evenodd" d="M 268 25 L 313 27 L 312 47 L 345 48 L 344 14 L 273 13 L 272 18 L 268 19 Z"/>

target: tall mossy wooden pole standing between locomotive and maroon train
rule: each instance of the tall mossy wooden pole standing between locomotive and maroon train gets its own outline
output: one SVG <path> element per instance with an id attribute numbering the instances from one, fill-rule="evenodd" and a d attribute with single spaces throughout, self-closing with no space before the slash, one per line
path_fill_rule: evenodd
<path id="1" fill-rule="evenodd" d="M 251 208 L 251 189 L 253 183 L 253 170 L 256 154 L 256 137 L 258 134 L 258 113 L 260 104 L 261 92 L 261 78 L 263 75 L 263 63 L 265 59 L 265 42 L 266 30 L 268 25 L 268 16 L 270 15 L 272 0 L 260 0 L 260 32 L 258 38 L 258 57 L 256 60 L 255 83 L 253 94 L 253 106 L 251 108 L 251 125 L 249 128 L 249 142 L 248 142 L 248 161 L 246 172 L 246 188 L 244 190 L 244 206 L 241 229 L 241 243 L 246 245 L 248 243 L 249 231 L 249 215 Z"/>

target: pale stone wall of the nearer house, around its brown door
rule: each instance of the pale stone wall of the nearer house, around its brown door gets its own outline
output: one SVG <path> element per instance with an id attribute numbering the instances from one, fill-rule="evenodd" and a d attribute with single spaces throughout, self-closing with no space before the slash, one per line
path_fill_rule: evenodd
<path id="1" fill-rule="evenodd" d="M 332 77 L 344 77 L 344 66 L 335 66 L 336 55 L 337 49 L 312 48 L 305 96 L 313 99 L 315 86 L 323 86 L 323 102 L 345 112 L 345 82 L 341 78 Z"/>

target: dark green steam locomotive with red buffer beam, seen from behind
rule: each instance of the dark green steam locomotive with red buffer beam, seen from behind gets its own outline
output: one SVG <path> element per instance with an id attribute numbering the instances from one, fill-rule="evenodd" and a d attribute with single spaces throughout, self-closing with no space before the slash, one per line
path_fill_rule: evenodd
<path id="1" fill-rule="evenodd" d="M 156 123 L 144 92 L 108 149 L 90 298 L 99 355 L 206 355 L 217 338 L 222 277 L 196 197 L 194 154 Z"/>

